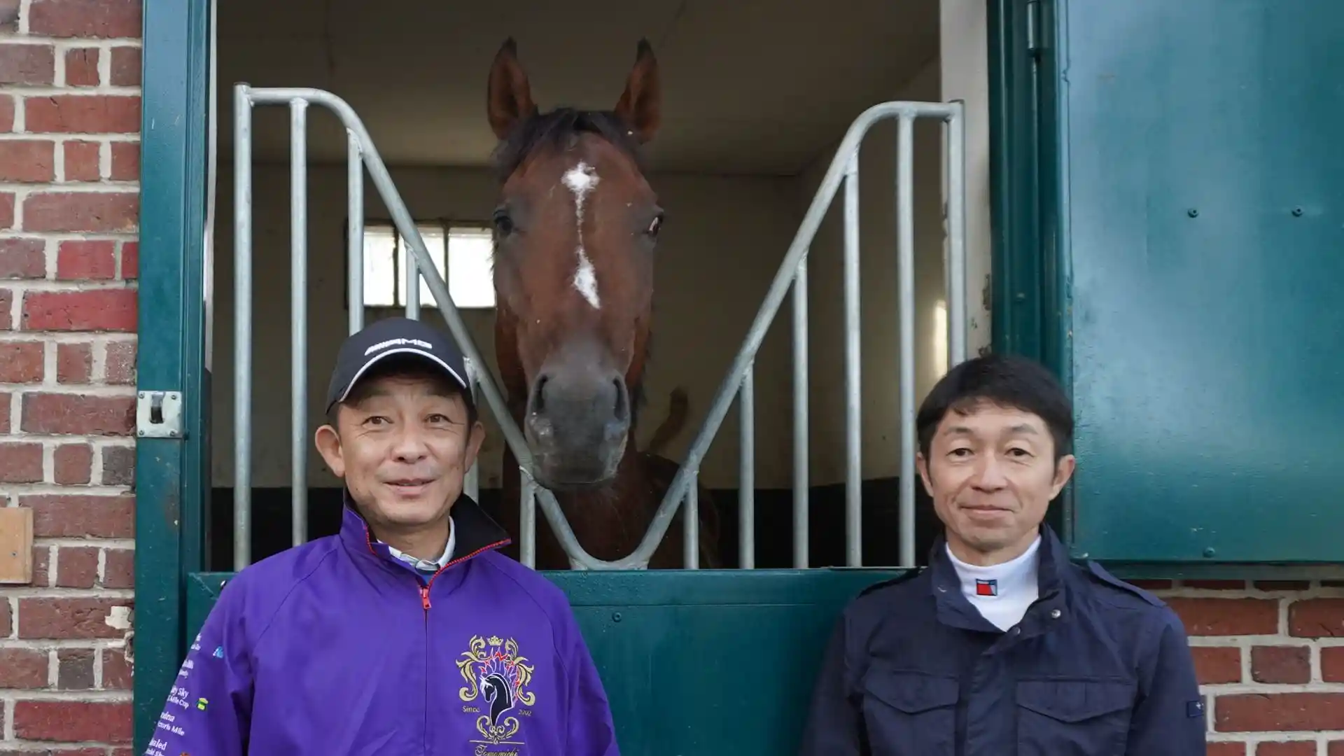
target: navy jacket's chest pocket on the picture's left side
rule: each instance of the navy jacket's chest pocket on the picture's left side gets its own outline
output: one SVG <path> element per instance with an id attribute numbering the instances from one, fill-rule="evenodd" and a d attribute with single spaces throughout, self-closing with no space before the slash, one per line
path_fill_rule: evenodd
<path id="1" fill-rule="evenodd" d="M 953 756 L 956 678 L 874 669 L 863 687 L 864 729 L 874 756 Z"/>

